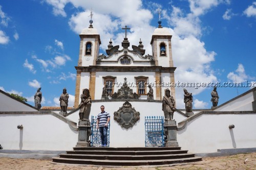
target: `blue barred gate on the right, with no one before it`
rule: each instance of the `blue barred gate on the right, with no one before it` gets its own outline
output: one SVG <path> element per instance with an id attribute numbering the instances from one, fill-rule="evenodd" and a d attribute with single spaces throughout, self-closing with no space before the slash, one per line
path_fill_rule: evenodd
<path id="1" fill-rule="evenodd" d="M 145 147 L 164 147 L 163 116 L 145 116 Z"/>

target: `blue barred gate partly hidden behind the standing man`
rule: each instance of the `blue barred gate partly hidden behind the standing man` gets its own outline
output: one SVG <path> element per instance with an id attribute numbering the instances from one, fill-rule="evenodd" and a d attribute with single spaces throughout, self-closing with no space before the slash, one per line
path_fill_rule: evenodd
<path id="1" fill-rule="evenodd" d="M 108 144 L 106 147 L 110 146 L 110 123 L 108 128 Z M 92 116 L 91 119 L 91 127 L 92 127 L 92 134 L 91 134 L 91 147 L 99 147 L 101 145 L 101 138 L 99 129 L 97 129 L 97 116 Z"/>

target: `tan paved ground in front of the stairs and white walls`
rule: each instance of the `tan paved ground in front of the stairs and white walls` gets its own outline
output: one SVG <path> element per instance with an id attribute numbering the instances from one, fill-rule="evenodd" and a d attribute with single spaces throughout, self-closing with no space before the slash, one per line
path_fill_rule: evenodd
<path id="1" fill-rule="evenodd" d="M 188 169 L 188 170 L 202 170 L 202 169 L 230 169 L 230 170 L 244 170 L 256 169 L 256 152 L 250 154 L 238 154 L 228 157 L 213 157 L 203 158 L 203 161 L 165 166 L 165 167 L 101 167 L 101 166 L 86 166 L 74 164 L 60 164 L 53 163 L 51 160 L 36 160 L 36 159 L 12 159 L 0 158 L 1 170 L 160 170 L 160 169 Z"/>

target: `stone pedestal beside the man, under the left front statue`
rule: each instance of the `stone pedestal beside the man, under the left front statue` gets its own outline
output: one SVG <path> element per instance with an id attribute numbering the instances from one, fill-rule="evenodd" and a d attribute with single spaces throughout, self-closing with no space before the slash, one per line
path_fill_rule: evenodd
<path id="1" fill-rule="evenodd" d="M 78 142 L 76 144 L 76 147 L 90 147 L 89 137 L 92 133 L 90 120 L 79 120 L 78 131 Z"/>

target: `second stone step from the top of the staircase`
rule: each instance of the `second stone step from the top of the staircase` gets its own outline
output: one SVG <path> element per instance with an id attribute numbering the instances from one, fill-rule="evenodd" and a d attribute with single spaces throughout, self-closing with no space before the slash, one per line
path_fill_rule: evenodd
<path id="1" fill-rule="evenodd" d="M 67 151 L 67 154 L 83 155 L 167 155 L 167 154 L 186 154 L 187 150 L 160 150 L 160 151 Z"/>

